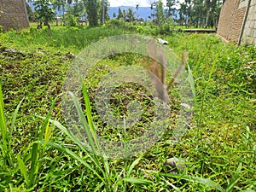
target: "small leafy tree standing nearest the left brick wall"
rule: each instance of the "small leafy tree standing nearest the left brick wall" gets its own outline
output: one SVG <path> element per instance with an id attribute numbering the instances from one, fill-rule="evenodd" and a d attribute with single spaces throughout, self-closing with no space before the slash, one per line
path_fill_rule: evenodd
<path id="1" fill-rule="evenodd" d="M 42 27 L 42 22 L 44 22 L 44 26 L 49 26 L 49 21 L 53 20 L 55 16 L 54 9 L 52 8 L 52 4 L 49 0 L 36 0 L 34 2 L 36 13 L 38 14 L 38 20 L 40 24 L 38 27 Z"/>

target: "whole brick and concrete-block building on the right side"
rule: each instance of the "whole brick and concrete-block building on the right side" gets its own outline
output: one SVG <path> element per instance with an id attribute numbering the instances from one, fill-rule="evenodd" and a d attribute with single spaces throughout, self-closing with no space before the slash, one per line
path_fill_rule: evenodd
<path id="1" fill-rule="evenodd" d="M 236 44 L 256 45 L 256 0 L 224 0 L 217 33 Z"/>

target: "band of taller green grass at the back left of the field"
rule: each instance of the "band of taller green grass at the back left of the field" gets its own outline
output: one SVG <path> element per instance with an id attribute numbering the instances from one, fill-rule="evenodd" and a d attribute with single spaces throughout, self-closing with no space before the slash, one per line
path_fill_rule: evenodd
<path id="1" fill-rule="evenodd" d="M 44 49 L 47 46 L 50 49 L 72 50 L 79 53 L 81 49 L 98 39 L 122 33 L 124 30 L 115 26 L 90 29 L 58 26 L 54 30 L 30 28 L 21 32 L 9 31 L 0 33 L 0 38 L 9 46 L 15 45 L 17 49 Z"/>

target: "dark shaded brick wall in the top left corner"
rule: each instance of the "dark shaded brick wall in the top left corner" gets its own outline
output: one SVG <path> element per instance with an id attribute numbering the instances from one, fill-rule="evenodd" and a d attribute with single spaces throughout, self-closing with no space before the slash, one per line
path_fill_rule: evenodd
<path id="1" fill-rule="evenodd" d="M 0 0 L 0 26 L 4 30 L 29 26 L 25 0 Z"/>

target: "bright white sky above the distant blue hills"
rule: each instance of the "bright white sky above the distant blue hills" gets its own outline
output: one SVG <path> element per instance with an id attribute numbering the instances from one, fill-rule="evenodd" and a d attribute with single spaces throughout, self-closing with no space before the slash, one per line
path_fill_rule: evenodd
<path id="1" fill-rule="evenodd" d="M 154 2 L 154 0 L 108 0 L 111 7 L 119 7 L 119 6 L 136 6 L 139 4 L 140 7 L 150 7 L 150 4 Z M 184 0 L 180 0 L 181 3 Z M 163 3 L 166 4 L 166 0 L 163 0 Z"/>

